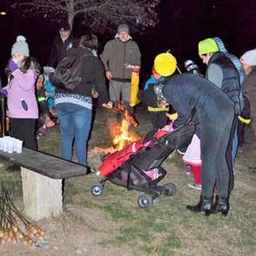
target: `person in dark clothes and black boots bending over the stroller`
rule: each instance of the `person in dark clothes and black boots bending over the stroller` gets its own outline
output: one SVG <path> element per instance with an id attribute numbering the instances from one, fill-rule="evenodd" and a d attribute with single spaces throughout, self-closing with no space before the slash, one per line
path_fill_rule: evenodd
<path id="1" fill-rule="evenodd" d="M 196 133 L 201 139 L 202 194 L 197 205 L 187 205 L 192 212 L 229 211 L 229 197 L 233 187 L 232 137 L 234 104 L 217 86 L 193 74 L 170 77 L 165 84 L 155 85 L 161 105 L 172 104 L 179 118 L 173 127 L 185 124 L 195 110 L 192 121 L 198 122 Z M 148 93 L 148 95 L 146 95 Z M 152 92 L 140 97 L 145 101 Z M 188 144 L 190 142 L 188 141 Z M 217 188 L 214 202 L 214 188 Z"/>

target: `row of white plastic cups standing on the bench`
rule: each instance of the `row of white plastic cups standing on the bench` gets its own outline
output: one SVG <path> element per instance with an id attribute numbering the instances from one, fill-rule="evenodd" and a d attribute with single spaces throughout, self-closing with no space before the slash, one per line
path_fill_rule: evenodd
<path id="1" fill-rule="evenodd" d="M 23 141 L 10 136 L 4 136 L 3 138 L 0 138 L 0 150 L 8 153 L 22 153 Z"/>

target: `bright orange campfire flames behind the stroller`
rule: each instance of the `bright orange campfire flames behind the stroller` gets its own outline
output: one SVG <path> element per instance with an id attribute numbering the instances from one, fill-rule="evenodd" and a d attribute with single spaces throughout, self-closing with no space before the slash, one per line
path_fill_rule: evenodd
<path id="1" fill-rule="evenodd" d="M 131 142 L 140 138 L 137 133 L 129 131 L 129 121 L 125 118 L 122 120 L 121 125 L 112 125 L 111 133 L 113 138 L 112 142 L 117 151 L 125 148 L 126 145 L 129 145 Z"/>

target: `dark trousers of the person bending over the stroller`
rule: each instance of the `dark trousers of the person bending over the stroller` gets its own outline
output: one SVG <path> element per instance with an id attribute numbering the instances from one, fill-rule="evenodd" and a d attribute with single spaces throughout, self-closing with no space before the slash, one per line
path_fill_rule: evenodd
<path id="1" fill-rule="evenodd" d="M 214 187 L 219 197 L 229 198 L 233 188 L 232 138 L 236 119 L 232 115 L 201 121 L 202 194 L 212 197 Z"/>

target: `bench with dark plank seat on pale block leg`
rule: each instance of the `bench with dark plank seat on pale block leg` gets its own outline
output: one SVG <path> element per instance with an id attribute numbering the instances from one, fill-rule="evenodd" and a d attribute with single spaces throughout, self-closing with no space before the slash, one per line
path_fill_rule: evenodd
<path id="1" fill-rule="evenodd" d="M 84 175 L 88 168 L 23 147 L 21 154 L 0 151 L 0 158 L 21 165 L 24 212 L 38 220 L 63 212 L 63 179 Z"/>

